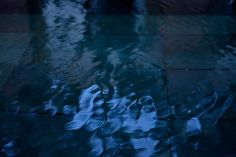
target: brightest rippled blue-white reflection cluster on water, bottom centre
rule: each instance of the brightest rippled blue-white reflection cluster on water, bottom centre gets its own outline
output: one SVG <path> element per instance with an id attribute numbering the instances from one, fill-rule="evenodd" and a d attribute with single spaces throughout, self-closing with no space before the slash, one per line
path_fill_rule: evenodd
<path id="1" fill-rule="evenodd" d="M 104 101 L 101 101 L 100 105 L 96 105 L 100 101 L 99 99 L 102 98 L 101 94 L 101 90 L 97 85 L 84 89 L 79 97 L 79 112 L 74 115 L 72 121 L 66 124 L 65 129 L 79 130 L 83 127 L 91 132 L 93 135 L 90 138 L 92 147 L 90 154 L 93 156 L 101 155 L 104 152 L 105 145 L 106 149 L 118 149 L 117 141 L 112 138 L 117 132 L 131 136 L 129 141 L 134 149 L 138 150 L 137 156 L 153 154 L 159 140 L 149 137 L 149 132 L 157 124 L 159 128 L 166 127 L 166 124 L 157 123 L 158 117 L 152 97 L 144 96 L 137 101 L 131 100 L 129 97 L 121 98 L 114 94 L 115 99 L 107 100 L 110 105 L 106 109 L 106 106 L 104 106 L 106 102 Z M 134 94 L 130 95 L 133 96 Z M 95 108 L 96 110 L 100 108 L 105 112 L 97 114 Z M 143 134 L 142 137 L 144 137 L 135 137 L 135 132 Z M 125 143 L 127 142 L 125 141 Z"/>

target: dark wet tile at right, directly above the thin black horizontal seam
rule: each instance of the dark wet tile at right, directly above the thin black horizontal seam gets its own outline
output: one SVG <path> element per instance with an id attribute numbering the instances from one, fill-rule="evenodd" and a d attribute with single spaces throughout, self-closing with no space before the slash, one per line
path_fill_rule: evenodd
<path id="1" fill-rule="evenodd" d="M 235 41 L 226 35 L 165 35 L 165 62 L 173 69 L 236 69 Z"/>

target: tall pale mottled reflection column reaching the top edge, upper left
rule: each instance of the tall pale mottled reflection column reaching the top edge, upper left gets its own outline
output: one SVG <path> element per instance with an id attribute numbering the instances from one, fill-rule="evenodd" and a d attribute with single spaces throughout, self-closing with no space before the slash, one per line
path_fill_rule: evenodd
<path id="1" fill-rule="evenodd" d="M 86 10 L 82 1 L 49 0 L 43 8 L 47 34 L 46 49 L 49 50 L 51 69 L 58 73 L 66 71 L 75 59 L 78 43 L 86 31 Z M 74 72 L 78 73 L 78 72 Z"/>

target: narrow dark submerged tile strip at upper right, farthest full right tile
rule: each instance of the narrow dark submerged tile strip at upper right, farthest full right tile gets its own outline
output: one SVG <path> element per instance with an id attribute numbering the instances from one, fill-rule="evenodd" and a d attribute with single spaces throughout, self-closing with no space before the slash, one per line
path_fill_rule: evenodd
<path id="1" fill-rule="evenodd" d="M 158 16 L 161 35 L 211 36 L 235 35 L 235 18 L 226 15 L 162 15 Z"/>

